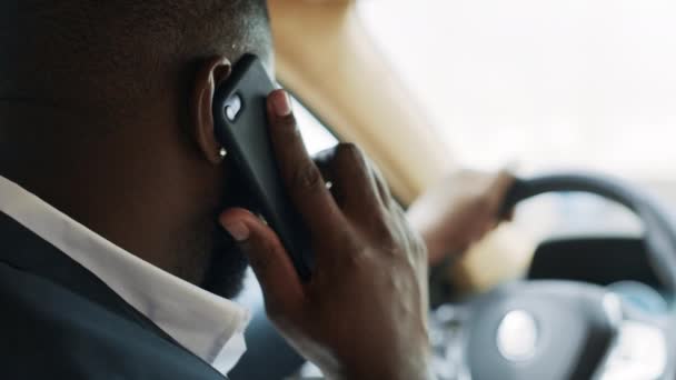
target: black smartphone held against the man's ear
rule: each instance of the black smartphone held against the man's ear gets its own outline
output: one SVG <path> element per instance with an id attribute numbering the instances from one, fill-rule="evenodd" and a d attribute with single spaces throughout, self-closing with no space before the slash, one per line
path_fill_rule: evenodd
<path id="1" fill-rule="evenodd" d="M 309 233 L 281 181 L 269 136 L 266 101 L 277 88 L 260 60 L 245 54 L 230 77 L 217 86 L 216 137 L 235 166 L 233 180 L 246 188 L 247 199 L 236 206 L 262 217 L 277 232 L 298 276 L 307 281 L 314 264 Z"/>

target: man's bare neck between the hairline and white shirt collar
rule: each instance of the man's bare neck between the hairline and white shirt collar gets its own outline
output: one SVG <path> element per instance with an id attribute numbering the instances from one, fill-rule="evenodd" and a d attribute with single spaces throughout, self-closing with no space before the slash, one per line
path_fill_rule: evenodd
<path id="1" fill-rule="evenodd" d="M 162 213 L 167 178 L 132 128 L 81 112 L 0 106 L 0 174 L 141 259 L 177 276 L 167 239 L 180 220 Z M 131 164 L 130 164 L 131 163 Z M 197 281 L 198 279 L 189 279 Z"/>

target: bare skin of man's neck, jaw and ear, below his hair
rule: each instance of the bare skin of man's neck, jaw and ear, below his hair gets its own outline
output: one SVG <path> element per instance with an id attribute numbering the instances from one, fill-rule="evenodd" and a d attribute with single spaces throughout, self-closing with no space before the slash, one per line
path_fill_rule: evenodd
<path id="1" fill-rule="evenodd" d="M 105 138 L 87 131 L 100 128 L 96 116 L 4 103 L 0 123 L 27 128 L 3 131 L 2 173 L 143 260 L 200 283 L 209 257 L 205 251 L 196 258 L 197 250 L 181 246 L 192 226 L 212 222 L 221 204 L 227 170 L 210 110 L 213 83 L 227 78 L 229 67 L 221 59 L 201 66 L 188 114 L 177 114 L 185 107 L 167 91 L 149 97 L 143 119 L 119 121 Z M 36 139 L 30 126 L 40 124 L 50 128 Z"/>

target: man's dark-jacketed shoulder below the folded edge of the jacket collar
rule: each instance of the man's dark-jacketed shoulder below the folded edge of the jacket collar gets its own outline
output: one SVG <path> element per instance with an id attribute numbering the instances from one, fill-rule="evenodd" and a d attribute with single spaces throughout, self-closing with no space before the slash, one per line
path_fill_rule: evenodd
<path id="1" fill-rule="evenodd" d="M 0 364 L 13 379 L 222 379 L 176 343 L 0 262 Z"/>

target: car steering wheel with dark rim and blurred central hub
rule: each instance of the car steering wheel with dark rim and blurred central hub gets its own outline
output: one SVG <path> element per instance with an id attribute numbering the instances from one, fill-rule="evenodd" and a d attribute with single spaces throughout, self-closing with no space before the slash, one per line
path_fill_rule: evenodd
<path id="1" fill-rule="evenodd" d="M 655 274 L 668 293 L 676 294 L 676 224 L 655 200 L 627 183 L 579 173 L 519 179 L 509 190 L 504 210 L 535 196 L 559 191 L 602 196 L 638 216 Z M 503 284 L 463 308 L 441 307 L 433 312 L 430 326 L 440 378 L 676 376 L 674 312 L 638 313 L 608 288 L 596 284 L 563 280 Z"/>

